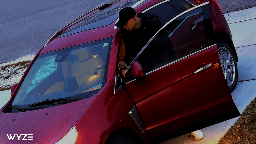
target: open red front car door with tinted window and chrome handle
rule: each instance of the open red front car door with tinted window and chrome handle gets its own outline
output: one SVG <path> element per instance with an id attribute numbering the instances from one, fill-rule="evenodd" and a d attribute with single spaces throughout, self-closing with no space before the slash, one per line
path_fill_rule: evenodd
<path id="1" fill-rule="evenodd" d="M 143 79 L 134 77 L 140 68 Z M 209 2 L 182 12 L 150 39 L 126 69 L 126 91 L 151 140 L 240 116 L 220 66 Z"/>

